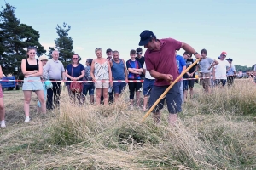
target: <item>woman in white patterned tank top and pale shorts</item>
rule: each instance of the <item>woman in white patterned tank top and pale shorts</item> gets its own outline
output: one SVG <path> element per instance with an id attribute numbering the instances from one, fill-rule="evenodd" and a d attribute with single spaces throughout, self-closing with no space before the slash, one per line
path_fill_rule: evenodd
<path id="1" fill-rule="evenodd" d="M 112 80 L 112 72 L 108 59 L 102 58 L 102 48 L 96 48 L 95 53 L 97 58 L 91 63 L 90 75 L 96 81 L 96 105 L 100 105 L 102 93 L 104 105 L 108 105 L 108 88 L 113 86 L 113 82 L 109 82 Z"/>

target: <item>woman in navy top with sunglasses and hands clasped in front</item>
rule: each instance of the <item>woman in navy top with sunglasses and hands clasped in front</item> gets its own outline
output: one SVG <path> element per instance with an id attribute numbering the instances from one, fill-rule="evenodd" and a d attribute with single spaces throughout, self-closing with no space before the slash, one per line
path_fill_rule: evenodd
<path id="1" fill-rule="evenodd" d="M 79 63 L 79 54 L 73 54 L 71 64 L 67 65 L 66 68 L 66 77 L 67 81 L 81 81 L 84 77 L 84 65 Z M 82 82 L 79 82 L 82 83 Z M 67 82 L 68 94 L 76 101 L 77 99 L 80 101 L 80 92 L 71 90 L 71 82 Z M 76 97 L 75 97 L 76 96 Z"/>

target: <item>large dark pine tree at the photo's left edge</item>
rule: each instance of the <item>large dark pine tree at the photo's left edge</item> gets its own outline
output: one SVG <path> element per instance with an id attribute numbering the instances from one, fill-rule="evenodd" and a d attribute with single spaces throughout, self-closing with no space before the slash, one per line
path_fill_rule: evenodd
<path id="1" fill-rule="evenodd" d="M 21 75 L 21 60 L 26 59 L 26 48 L 33 46 L 38 48 L 38 56 L 46 51 L 38 42 L 39 33 L 32 26 L 20 24 L 20 20 L 15 16 L 15 7 L 9 3 L 2 7 L 0 12 L 0 65 L 5 74 L 15 74 L 17 78 Z"/>

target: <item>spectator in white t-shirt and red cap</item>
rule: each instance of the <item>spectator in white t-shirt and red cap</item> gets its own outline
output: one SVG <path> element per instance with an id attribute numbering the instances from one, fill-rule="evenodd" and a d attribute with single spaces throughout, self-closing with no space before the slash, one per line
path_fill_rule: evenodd
<path id="1" fill-rule="evenodd" d="M 224 86 L 227 82 L 227 67 L 230 68 L 230 63 L 225 60 L 227 56 L 226 52 L 222 52 L 218 59 L 218 65 L 213 67 L 213 80 L 215 80 L 215 85 L 222 83 Z"/>

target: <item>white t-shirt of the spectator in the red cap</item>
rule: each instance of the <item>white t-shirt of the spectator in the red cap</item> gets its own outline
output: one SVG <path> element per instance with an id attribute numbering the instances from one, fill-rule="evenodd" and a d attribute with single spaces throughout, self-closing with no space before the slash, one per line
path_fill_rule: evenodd
<path id="1" fill-rule="evenodd" d="M 215 78 L 216 79 L 227 79 L 227 67 L 230 67 L 230 63 L 227 60 L 218 59 L 218 65 L 215 68 Z"/>

